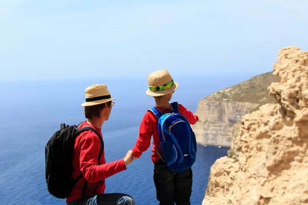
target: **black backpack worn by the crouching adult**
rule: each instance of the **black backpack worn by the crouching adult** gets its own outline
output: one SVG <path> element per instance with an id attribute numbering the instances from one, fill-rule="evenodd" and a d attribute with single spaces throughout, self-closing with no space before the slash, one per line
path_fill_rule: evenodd
<path id="1" fill-rule="evenodd" d="M 82 174 L 76 179 L 71 177 L 75 139 L 82 132 L 90 130 L 100 138 L 101 150 L 98 156 L 100 165 L 100 158 L 104 150 L 103 139 L 93 127 L 85 126 L 79 129 L 81 124 L 69 126 L 62 123 L 60 130 L 51 136 L 45 146 L 45 177 L 47 188 L 48 192 L 56 198 L 64 199 L 69 197 L 75 183 L 83 177 Z M 85 182 L 82 198 L 85 195 L 86 188 L 87 181 Z"/>

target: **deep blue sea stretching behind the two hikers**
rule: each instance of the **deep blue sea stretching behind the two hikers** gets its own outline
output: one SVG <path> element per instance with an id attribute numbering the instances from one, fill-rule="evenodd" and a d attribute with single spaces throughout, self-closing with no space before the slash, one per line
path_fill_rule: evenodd
<path id="1" fill-rule="evenodd" d="M 199 100 L 254 74 L 174 76 L 179 88 L 171 101 L 196 111 Z M 45 182 L 45 144 L 61 123 L 84 121 L 85 88 L 107 84 L 117 98 L 102 128 L 107 162 L 121 159 L 138 138 L 140 122 L 153 99 L 145 94 L 146 77 L 0 82 L 0 204 L 66 204 L 51 196 Z M 106 193 L 127 193 L 136 204 L 159 204 L 152 180 L 151 148 L 127 170 L 106 179 Z M 198 146 L 192 167 L 191 204 L 201 204 L 210 166 L 228 147 Z"/>

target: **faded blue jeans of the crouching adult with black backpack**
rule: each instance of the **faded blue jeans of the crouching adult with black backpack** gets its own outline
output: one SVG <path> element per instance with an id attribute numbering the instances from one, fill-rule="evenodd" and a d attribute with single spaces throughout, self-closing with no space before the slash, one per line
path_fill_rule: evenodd
<path id="1" fill-rule="evenodd" d="M 85 196 L 84 200 L 77 199 L 68 202 L 67 205 L 134 205 L 135 202 L 128 194 L 100 194 L 95 196 Z"/>

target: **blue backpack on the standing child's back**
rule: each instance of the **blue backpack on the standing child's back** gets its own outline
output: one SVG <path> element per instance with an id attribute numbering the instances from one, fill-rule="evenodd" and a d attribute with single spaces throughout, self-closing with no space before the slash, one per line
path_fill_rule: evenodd
<path id="1" fill-rule="evenodd" d="M 158 133 L 163 154 L 156 152 L 172 172 L 183 173 L 196 161 L 197 142 L 187 118 L 180 114 L 179 104 L 171 103 L 173 111 L 163 114 L 156 107 L 149 109 L 158 119 Z"/>

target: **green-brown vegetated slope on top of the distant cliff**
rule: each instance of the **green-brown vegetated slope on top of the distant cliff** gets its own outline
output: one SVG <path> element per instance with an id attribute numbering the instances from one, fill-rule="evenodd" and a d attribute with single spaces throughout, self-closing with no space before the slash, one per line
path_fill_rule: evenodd
<path id="1" fill-rule="evenodd" d="M 267 87 L 273 82 L 280 82 L 279 77 L 274 76 L 273 72 L 267 72 L 235 86 L 215 92 L 206 97 L 205 100 L 250 102 L 257 103 L 259 106 L 274 103 L 276 102 L 275 98 L 267 95 Z"/>

